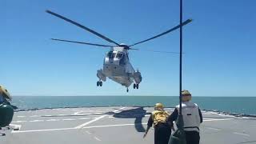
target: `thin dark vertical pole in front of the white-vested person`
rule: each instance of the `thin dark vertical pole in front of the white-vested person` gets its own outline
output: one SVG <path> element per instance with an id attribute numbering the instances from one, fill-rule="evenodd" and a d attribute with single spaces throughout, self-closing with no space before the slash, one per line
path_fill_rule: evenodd
<path id="1" fill-rule="evenodd" d="M 180 0 L 180 39 L 179 39 L 179 114 L 182 115 L 182 0 Z"/>

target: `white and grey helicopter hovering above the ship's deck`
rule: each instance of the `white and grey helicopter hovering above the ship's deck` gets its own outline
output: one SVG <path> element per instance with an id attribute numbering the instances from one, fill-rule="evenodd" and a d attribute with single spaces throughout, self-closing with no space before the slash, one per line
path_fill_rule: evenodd
<path id="1" fill-rule="evenodd" d="M 126 86 L 127 92 L 129 91 L 128 87 L 132 83 L 134 83 L 134 89 L 138 89 L 139 83 L 142 82 L 142 74 L 138 70 L 135 71 L 134 67 L 130 63 L 128 50 L 138 50 L 132 47 L 138 44 L 141 44 L 143 42 L 150 41 L 154 38 L 161 37 L 162 35 L 168 34 L 171 31 L 177 30 L 180 27 L 180 25 L 174 26 L 170 30 L 166 30 L 161 34 L 155 35 L 154 37 L 147 38 L 146 40 L 143 40 L 140 42 L 136 42 L 132 45 L 126 45 L 123 43 L 119 44 L 118 42 L 115 42 L 112 39 L 107 38 L 106 36 L 99 34 L 98 32 L 91 30 L 86 26 L 82 26 L 78 22 L 74 22 L 69 18 L 63 17 L 60 14 L 56 14 L 50 10 L 46 10 L 46 13 L 52 14 L 55 17 L 61 18 L 66 22 L 70 22 L 75 26 L 82 28 L 83 30 L 86 30 L 92 34 L 97 35 L 99 38 L 102 38 L 107 42 L 114 44 L 114 45 L 102 45 L 102 44 L 96 44 L 96 43 L 90 43 L 90 42 L 78 42 L 78 41 L 71 41 L 71 40 L 65 40 L 65 39 L 51 38 L 54 41 L 73 42 L 73 43 L 85 44 L 90 46 L 109 47 L 110 51 L 106 54 L 104 58 L 103 68 L 97 71 L 97 77 L 99 79 L 97 82 L 97 86 L 102 86 L 102 81 L 106 82 L 106 78 L 110 78 L 114 82 L 118 82 L 122 86 Z M 191 19 L 187 19 L 185 22 L 182 22 L 182 26 L 185 26 L 191 21 L 192 21 Z M 159 52 L 159 51 L 154 51 L 154 52 Z"/>

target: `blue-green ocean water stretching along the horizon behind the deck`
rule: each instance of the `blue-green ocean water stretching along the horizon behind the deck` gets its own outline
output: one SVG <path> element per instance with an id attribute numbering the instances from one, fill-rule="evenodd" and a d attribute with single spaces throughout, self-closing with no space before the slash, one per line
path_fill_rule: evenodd
<path id="1" fill-rule="evenodd" d="M 15 96 L 12 104 L 19 110 L 82 106 L 165 106 L 178 105 L 178 96 Z M 256 115 L 256 97 L 193 97 L 203 110 Z"/>

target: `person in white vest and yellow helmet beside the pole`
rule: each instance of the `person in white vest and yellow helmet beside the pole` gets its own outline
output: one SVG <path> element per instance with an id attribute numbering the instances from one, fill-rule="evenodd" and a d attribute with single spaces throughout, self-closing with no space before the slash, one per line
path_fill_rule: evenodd
<path id="1" fill-rule="evenodd" d="M 182 117 L 184 131 L 186 134 L 186 144 L 199 144 L 199 126 L 202 123 L 202 113 L 196 103 L 190 102 L 191 94 L 189 90 L 182 90 Z M 170 114 L 168 122 L 173 122 L 178 118 L 179 105 Z"/>

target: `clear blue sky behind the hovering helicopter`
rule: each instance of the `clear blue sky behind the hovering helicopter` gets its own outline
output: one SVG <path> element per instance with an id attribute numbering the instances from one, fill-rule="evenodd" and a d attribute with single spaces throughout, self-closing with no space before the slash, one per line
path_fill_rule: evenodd
<path id="1" fill-rule="evenodd" d="M 255 0 L 184 2 L 183 89 L 196 96 L 256 96 Z M 108 49 L 50 38 L 110 44 L 46 14 L 52 10 L 116 42 L 132 44 L 179 22 L 178 0 L 3 0 L 0 3 L 0 84 L 13 95 L 178 95 L 178 54 L 130 51 L 141 71 L 138 90 L 109 79 L 97 87 L 96 71 Z M 179 51 L 179 31 L 135 46 Z"/>

